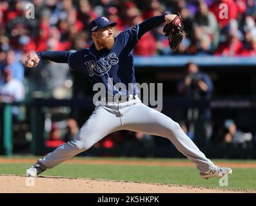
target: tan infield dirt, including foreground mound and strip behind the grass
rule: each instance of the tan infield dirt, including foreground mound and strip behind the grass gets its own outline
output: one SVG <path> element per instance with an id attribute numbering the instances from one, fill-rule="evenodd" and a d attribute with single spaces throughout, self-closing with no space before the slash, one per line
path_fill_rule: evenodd
<path id="1" fill-rule="evenodd" d="M 0 164 L 26 163 L 32 164 L 31 158 L 0 158 Z M 147 162 L 147 161 L 119 161 L 119 160 L 68 160 L 65 164 L 118 164 L 118 165 L 168 165 L 179 167 L 194 167 L 191 162 Z M 218 162 L 218 165 L 226 165 Z M 230 167 L 256 168 L 256 164 L 230 163 Z M 39 176 L 26 178 L 23 175 L 0 174 L 0 192 L 86 192 L 86 193 L 222 193 L 222 192 L 253 192 L 246 190 L 213 189 L 208 187 L 171 185 L 162 183 L 139 183 L 119 180 L 101 180 L 90 178 L 63 178 L 58 176 Z"/>

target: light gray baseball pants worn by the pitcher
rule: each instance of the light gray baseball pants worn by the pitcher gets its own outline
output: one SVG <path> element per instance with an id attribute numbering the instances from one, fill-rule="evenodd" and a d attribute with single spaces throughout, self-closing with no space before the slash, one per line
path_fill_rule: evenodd
<path id="1" fill-rule="evenodd" d="M 97 103 L 99 106 L 95 107 L 74 139 L 60 145 L 43 159 L 39 159 L 39 163 L 46 168 L 55 167 L 86 151 L 104 136 L 127 129 L 168 138 L 201 172 L 207 171 L 214 165 L 182 131 L 177 122 L 144 105 L 137 96 L 123 103 L 101 101 Z"/>

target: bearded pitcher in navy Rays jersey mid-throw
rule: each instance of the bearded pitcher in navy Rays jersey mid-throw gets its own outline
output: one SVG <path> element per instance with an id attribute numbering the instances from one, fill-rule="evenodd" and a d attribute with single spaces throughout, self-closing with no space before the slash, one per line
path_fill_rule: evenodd
<path id="1" fill-rule="evenodd" d="M 182 20 L 179 15 L 164 14 L 146 19 L 116 37 L 112 27 L 117 23 L 110 22 L 106 17 L 97 17 L 90 23 L 94 41 L 90 48 L 77 52 L 36 52 L 28 55 L 25 65 L 30 67 L 37 66 L 41 59 L 67 63 L 71 70 L 81 71 L 93 85 L 101 82 L 107 97 L 97 102 L 94 112 L 73 140 L 37 160 L 26 170 L 26 176 L 37 176 L 86 151 L 104 136 L 123 129 L 168 138 L 196 165 L 202 178 L 221 178 L 231 174 L 230 168 L 218 167 L 206 158 L 177 122 L 149 108 L 137 97 L 139 89 L 135 84 L 133 48 L 144 33 L 162 23 L 166 23 L 163 32 L 170 47 L 176 50 L 184 37 Z M 32 61 L 34 64 L 30 63 Z M 123 83 L 126 88 L 116 88 L 117 83 Z M 133 87 L 129 89 L 131 84 Z M 117 94 L 123 98 L 116 98 Z"/>

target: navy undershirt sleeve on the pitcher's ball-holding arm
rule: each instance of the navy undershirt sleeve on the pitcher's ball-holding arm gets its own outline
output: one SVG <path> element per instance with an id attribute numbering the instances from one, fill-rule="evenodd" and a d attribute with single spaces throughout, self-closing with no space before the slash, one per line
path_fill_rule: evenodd
<path id="1" fill-rule="evenodd" d="M 71 52 L 36 52 L 40 59 L 50 60 L 58 63 L 68 63 L 68 57 Z"/>

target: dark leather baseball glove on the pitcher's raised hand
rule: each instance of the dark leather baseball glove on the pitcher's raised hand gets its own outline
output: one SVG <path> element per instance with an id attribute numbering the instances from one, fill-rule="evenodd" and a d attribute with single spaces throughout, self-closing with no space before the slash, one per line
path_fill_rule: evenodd
<path id="1" fill-rule="evenodd" d="M 170 48 L 173 51 L 176 51 L 186 34 L 184 32 L 184 25 L 181 21 L 181 15 L 178 14 L 172 22 L 166 24 L 162 32 L 168 37 Z"/>

